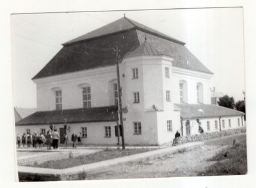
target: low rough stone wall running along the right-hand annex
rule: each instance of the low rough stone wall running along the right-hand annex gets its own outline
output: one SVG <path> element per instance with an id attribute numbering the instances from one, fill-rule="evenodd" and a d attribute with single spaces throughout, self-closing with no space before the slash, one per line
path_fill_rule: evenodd
<path id="1" fill-rule="evenodd" d="M 202 134 L 193 134 L 189 136 L 182 136 L 178 138 L 176 141 L 173 140 L 173 143 L 188 143 L 192 141 L 204 141 L 204 140 L 211 140 L 214 138 L 221 138 L 223 136 L 229 136 L 232 134 L 239 134 L 239 133 L 246 133 L 246 127 L 241 127 L 237 129 L 228 129 L 224 131 L 214 131 L 214 132 L 205 132 Z"/>

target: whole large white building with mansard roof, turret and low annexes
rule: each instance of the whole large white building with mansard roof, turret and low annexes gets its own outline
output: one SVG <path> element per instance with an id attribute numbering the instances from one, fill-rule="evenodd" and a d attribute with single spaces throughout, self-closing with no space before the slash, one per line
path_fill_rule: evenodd
<path id="1" fill-rule="evenodd" d="M 45 133 L 54 124 L 61 135 L 81 133 L 83 143 L 116 144 L 116 45 L 126 144 L 163 144 L 176 131 L 198 134 L 199 125 L 243 126 L 243 113 L 211 105 L 213 73 L 184 42 L 124 17 L 63 44 L 34 76 L 38 112 L 17 122 L 16 133 Z"/>

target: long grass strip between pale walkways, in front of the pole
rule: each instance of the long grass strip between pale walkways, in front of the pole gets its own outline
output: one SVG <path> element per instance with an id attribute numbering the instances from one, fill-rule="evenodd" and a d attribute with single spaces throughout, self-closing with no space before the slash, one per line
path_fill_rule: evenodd
<path id="1" fill-rule="evenodd" d="M 72 152 L 69 153 L 68 159 L 61 159 L 58 161 L 47 161 L 42 164 L 28 164 L 26 166 L 39 167 L 39 168 L 54 168 L 54 169 L 64 169 L 70 168 L 73 166 L 79 166 L 83 164 L 97 163 L 99 161 L 105 161 L 108 159 L 115 159 L 118 157 L 125 157 L 128 155 L 139 154 L 142 152 L 148 152 L 150 148 L 141 148 L 141 149 L 125 149 L 125 150 L 116 150 L 111 148 L 106 148 L 104 151 L 97 152 L 95 154 L 88 154 L 79 157 L 74 157 Z"/>

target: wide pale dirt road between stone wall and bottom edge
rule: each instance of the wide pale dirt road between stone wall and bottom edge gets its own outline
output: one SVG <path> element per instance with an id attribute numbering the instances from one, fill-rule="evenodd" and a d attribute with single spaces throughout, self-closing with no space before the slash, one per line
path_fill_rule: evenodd
<path id="1" fill-rule="evenodd" d="M 168 155 L 166 157 L 148 161 L 143 159 L 113 166 L 105 170 L 97 170 L 86 174 L 86 179 L 118 179 L 118 178 L 160 178 L 160 177 L 189 177 L 197 176 L 200 171 L 214 164 L 207 159 L 214 157 L 218 152 L 232 145 L 234 139 L 243 135 L 227 136 L 205 142 L 204 147 L 198 147 L 189 152 Z M 225 145 L 223 145 L 225 143 Z"/>

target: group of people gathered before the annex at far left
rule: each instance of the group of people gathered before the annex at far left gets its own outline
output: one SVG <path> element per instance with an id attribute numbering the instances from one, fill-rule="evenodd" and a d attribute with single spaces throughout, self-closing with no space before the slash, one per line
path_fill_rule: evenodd
<path id="1" fill-rule="evenodd" d="M 60 135 L 56 127 L 54 127 L 53 129 L 49 129 L 49 131 L 47 131 L 45 136 L 43 133 L 41 134 L 28 133 L 27 135 L 26 133 L 24 133 L 22 136 L 20 136 L 20 134 L 17 135 L 18 147 L 20 147 L 21 144 L 23 145 L 23 147 L 25 147 L 25 145 L 27 145 L 27 147 L 31 147 L 31 145 L 33 145 L 33 148 L 37 148 L 37 147 L 41 148 L 47 145 L 47 150 L 51 150 L 51 146 L 54 149 L 58 149 L 59 140 L 60 140 Z M 63 135 L 64 147 L 67 147 L 68 140 L 69 140 L 68 135 L 64 134 Z M 76 132 L 74 131 L 74 133 L 71 136 L 71 140 L 72 140 L 73 148 L 76 148 L 76 141 L 78 141 L 79 145 L 81 145 L 81 133 L 79 133 L 79 135 L 77 136 Z"/>

